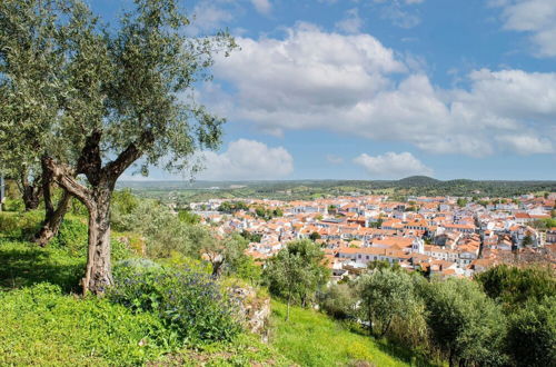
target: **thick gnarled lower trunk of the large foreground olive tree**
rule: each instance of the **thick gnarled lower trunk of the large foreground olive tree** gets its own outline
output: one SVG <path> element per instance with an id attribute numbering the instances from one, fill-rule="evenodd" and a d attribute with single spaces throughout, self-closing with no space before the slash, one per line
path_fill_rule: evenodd
<path id="1" fill-rule="evenodd" d="M 89 208 L 89 254 L 82 280 L 83 295 L 100 295 L 113 285 L 110 264 L 110 197 L 109 187 L 93 189 Z"/>

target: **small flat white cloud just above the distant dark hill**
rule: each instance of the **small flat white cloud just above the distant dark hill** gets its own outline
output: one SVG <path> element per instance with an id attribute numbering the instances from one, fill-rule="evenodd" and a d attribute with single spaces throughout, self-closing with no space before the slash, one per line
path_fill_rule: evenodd
<path id="1" fill-rule="evenodd" d="M 403 178 L 413 175 L 431 175 L 433 170 L 410 152 L 393 151 L 371 157 L 363 153 L 354 162 L 364 167 L 373 178 Z"/>

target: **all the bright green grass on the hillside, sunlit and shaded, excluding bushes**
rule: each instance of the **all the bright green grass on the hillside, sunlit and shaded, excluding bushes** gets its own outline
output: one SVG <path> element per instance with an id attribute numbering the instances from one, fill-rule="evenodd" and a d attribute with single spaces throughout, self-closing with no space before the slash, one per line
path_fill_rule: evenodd
<path id="1" fill-rule="evenodd" d="M 272 304 L 271 343 L 241 334 L 231 343 L 183 348 L 155 314 L 107 298 L 79 297 L 86 227 L 68 216 L 59 237 L 40 248 L 27 239 L 39 212 L 0 214 L 0 365 L 56 366 L 403 366 L 384 345 L 326 316 Z M 118 237 L 118 236 L 115 236 Z M 115 259 L 133 255 L 115 242 Z M 330 346 L 335 347 L 331 348 Z M 405 359 L 407 360 L 407 358 Z"/>

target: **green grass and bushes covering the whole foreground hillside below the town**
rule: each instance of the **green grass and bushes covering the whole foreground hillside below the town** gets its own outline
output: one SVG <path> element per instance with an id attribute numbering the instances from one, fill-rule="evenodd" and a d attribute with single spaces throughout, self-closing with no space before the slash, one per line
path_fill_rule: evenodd
<path id="1" fill-rule="evenodd" d="M 326 287 L 324 252 L 310 240 L 290 242 L 261 274 L 244 236 L 217 238 L 130 192 L 112 207 L 121 232 L 111 241 L 115 286 L 101 299 L 75 296 L 88 246 L 79 205 L 44 248 L 28 241 L 39 211 L 0 214 L 0 364 L 517 367 L 555 357 L 549 268 L 428 280 L 376 261 L 355 281 Z M 270 346 L 241 329 L 228 289 L 247 282 L 277 297 Z"/>

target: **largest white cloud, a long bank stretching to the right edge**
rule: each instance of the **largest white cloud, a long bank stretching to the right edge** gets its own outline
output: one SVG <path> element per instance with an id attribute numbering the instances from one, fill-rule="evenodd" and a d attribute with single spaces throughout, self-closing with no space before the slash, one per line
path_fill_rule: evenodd
<path id="1" fill-rule="evenodd" d="M 446 90 L 370 34 L 298 24 L 285 39 L 237 41 L 241 51 L 215 66 L 234 92 L 211 85 L 206 102 L 269 133 L 326 129 L 476 157 L 500 148 L 495 136 L 556 141 L 556 73 L 481 69 L 469 88 Z"/>

